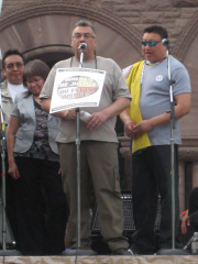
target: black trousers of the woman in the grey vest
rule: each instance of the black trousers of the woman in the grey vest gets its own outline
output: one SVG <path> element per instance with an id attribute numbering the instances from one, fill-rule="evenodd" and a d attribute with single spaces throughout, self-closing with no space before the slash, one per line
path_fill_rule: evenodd
<path id="1" fill-rule="evenodd" d="M 57 255 L 65 249 L 67 202 L 59 164 L 15 157 L 19 250 L 24 255 Z"/>

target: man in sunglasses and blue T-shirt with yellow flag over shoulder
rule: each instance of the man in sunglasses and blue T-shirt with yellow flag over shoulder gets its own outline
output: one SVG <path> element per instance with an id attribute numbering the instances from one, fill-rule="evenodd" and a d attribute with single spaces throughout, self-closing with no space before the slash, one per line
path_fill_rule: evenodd
<path id="1" fill-rule="evenodd" d="M 125 133 L 132 138 L 132 197 L 135 232 L 132 251 L 153 254 L 172 249 L 172 177 L 170 177 L 170 99 L 167 67 L 167 31 L 157 25 L 146 28 L 142 38 L 145 59 L 125 68 L 124 75 L 133 100 L 121 113 Z M 190 109 L 190 80 L 184 65 L 169 56 L 173 96 L 175 98 L 175 233 L 179 226 L 178 206 L 178 119 Z M 158 195 L 161 226 L 158 243 L 154 234 Z"/>

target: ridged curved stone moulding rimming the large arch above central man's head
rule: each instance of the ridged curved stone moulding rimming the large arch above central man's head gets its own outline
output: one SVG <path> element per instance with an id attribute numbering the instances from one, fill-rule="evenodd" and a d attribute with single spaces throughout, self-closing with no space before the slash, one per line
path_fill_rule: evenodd
<path id="1" fill-rule="evenodd" d="M 87 4 L 80 3 L 65 3 L 65 2 L 36 2 L 29 3 L 28 6 L 16 9 L 11 13 L 6 13 L 0 20 L 0 32 L 12 24 L 28 20 L 30 18 L 41 15 L 74 15 L 96 21 L 103 24 L 111 30 L 116 31 L 119 35 L 123 36 L 132 46 L 141 53 L 141 34 L 134 28 L 132 28 L 127 21 L 120 19 L 113 13 L 97 9 Z"/>

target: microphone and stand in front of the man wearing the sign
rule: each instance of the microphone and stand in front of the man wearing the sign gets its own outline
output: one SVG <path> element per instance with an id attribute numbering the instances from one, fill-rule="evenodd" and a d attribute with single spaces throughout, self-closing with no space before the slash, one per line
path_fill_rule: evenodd
<path id="1" fill-rule="evenodd" d="M 82 43 L 84 44 L 84 43 Z M 84 64 L 84 50 L 87 47 L 87 44 L 80 45 L 80 63 L 79 68 L 82 68 Z M 81 250 L 80 249 L 80 111 L 79 108 L 75 108 L 77 113 L 76 116 L 76 154 L 77 154 L 77 249 L 76 250 L 66 250 L 62 253 L 62 255 L 70 255 L 70 256 L 82 256 L 82 255 L 96 255 L 96 252 L 92 250 Z"/>

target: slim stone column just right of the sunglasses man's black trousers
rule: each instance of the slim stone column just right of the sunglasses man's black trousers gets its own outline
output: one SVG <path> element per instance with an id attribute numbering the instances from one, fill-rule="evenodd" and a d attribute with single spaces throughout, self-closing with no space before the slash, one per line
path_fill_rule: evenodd
<path id="1" fill-rule="evenodd" d="M 185 211 L 185 163 L 179 162 L 178 165 L 178 175 L 179 175 L 179 213 Z"/>

